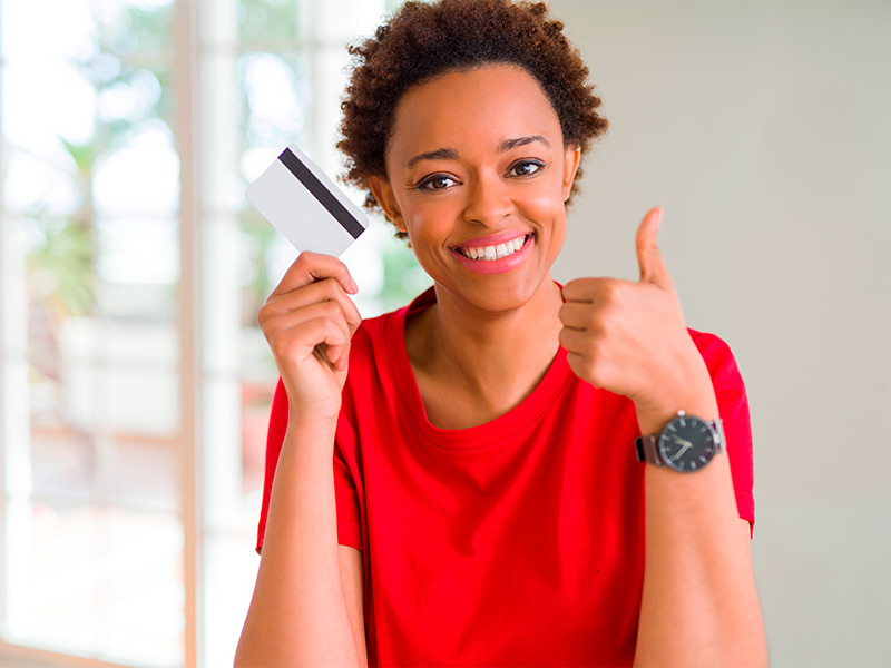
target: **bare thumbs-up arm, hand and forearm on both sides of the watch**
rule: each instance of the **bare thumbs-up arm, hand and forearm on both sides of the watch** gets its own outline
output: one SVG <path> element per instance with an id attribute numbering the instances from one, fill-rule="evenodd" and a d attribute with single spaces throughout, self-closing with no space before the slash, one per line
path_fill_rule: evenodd
<path id="1" fill-rule="evenodd" d="M 572 281 L 560 310 L 560 343 L 575 373 L 631 399 L 645 435 L 682 409 L 718 418 L 656 244 L 660 219 L 662 209 L 652 209 L 638 229 L 639 282 Z M 748 522 L 738 515 L 726 452 L 695 473 L 646 464 L 645 508 L 635 666 L 767 666 Z"/>

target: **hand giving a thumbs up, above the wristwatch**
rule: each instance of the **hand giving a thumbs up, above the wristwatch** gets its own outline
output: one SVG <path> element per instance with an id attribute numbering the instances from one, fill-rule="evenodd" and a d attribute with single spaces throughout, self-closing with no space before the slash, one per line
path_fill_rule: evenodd
<path id="1" fill-rule="evenodd" d="M 634 401 L 643 433 L 658 431 L 679 409 L 717 418 L 712 379 L 659 253 L 660 222 L 662 208 L 653 208 L 637 229 L 638 282 L 570 281 L 560 307 L 569 366 L 590 384 Z"/>

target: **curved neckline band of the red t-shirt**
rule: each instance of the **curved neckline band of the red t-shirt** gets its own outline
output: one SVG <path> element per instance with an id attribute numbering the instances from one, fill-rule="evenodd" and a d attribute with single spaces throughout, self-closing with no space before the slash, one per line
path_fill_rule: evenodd
<path id="1" fill-rule="evenodd" d="M 418 381 L 405 351 L 405 321 L 409 315 L 428 308 L 437 301 L 433 287 L 415 297 L 408 306 L 390 314 L 384 325 L 386 355 L 393 383 L 423 440 L 444 450 L 478 450 L 497 445 L 537 422 L 574 377 L 562 346 L 548 366 L 541 382 L 519 405 L 490 422 L 467 429 L 441 429 L 430 423 L 421 400 Z"/>

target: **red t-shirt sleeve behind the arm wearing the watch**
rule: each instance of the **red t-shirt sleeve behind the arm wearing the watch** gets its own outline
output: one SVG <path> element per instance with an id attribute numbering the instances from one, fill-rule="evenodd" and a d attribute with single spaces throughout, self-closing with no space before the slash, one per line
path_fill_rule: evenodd
<path id="1" fill-rule="evenodd" d="M 724 341 L 712 334 L 694 335 L 705 360 L 717 397 L 718 413 L 724 426 L 726 452 L 730 456 L 733 490 L 740 517 L 748 521 L 750 539 L 755 531 L 754 458 L 748 399 L 736 360 Z"/>

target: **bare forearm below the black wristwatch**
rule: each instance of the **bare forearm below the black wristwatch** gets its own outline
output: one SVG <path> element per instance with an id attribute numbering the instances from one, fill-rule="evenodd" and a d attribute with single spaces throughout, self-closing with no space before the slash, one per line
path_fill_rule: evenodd
<path id="1" fill-rule="evenodd" d="M 647 465 L 635 666 L 767 666 L 748 522 L 726 453 L 686 475 Z"/>

